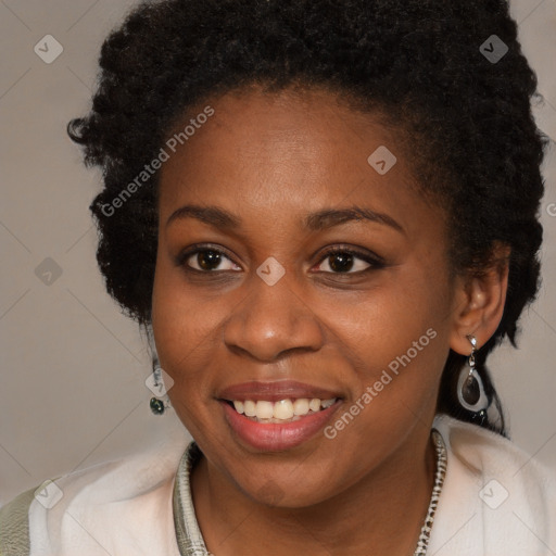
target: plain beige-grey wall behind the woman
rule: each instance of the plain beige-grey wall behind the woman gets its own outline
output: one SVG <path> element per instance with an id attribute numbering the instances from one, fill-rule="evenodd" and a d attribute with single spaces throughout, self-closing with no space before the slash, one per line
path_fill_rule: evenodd
<path id="1" fill-rule="evenodd" d="M 173 413 L 150 413 L 144 339 L 96 265 L 88 205 L 99 175 L 65 135 L 89 106 L 103 37 L 134 3 L 0 1 L 0 505 L 48 477 L 185 433 Z M 556 0 L 515 0 L 513 13 L 546 98 L 539 124 L 556 139 Z M 55 52 L 51 39 L 45 52 L 46 35 L 63 48 L 50 64 L 34 51 Z M 556 468 L 556 150 L 545 176 L 544 286 L 520 350 L 502 349 L 491 366 L 515 442 Z M 36 274 L 41 263 L 50 285 Z"/>

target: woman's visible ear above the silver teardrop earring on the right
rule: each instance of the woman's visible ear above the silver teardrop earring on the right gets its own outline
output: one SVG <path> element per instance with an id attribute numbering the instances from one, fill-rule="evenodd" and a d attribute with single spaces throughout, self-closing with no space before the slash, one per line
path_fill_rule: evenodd
<path id="1" fill-rule="evenodd" d="M 509 247 L 497 243 L 488 268 L 456 278 L 450 337 L 450 348 L 456 353 L 471 353 L 468 334 L 477 338 L 479 350 L 498 328 L 506 303 L 509 253 Z"/>

